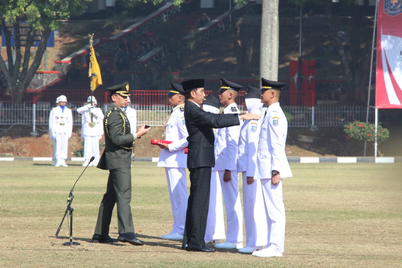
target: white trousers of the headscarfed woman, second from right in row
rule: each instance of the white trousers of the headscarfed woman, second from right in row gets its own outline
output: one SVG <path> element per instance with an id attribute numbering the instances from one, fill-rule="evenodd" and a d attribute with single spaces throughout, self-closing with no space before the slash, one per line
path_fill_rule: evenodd
<path id="1" fill-rule="evenodd" d="M 244 225 L 246 226 L 246 245 L 267 245 L 268 227 L 265 213 L 263 188 L 259 179 L 247 184 L 246 172 L 243 177 Z"/>

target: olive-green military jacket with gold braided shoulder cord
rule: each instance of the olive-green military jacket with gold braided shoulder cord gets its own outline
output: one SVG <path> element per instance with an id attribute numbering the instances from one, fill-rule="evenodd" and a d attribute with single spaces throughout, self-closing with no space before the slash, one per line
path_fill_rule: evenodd
<path id="1" fill-rule="evenodd" d="M 99 160 L 100 169 L 131 167 L 131 153 L 134 136 L 125 111 L 111 103 L 103 119 L 105 150 Z"/>

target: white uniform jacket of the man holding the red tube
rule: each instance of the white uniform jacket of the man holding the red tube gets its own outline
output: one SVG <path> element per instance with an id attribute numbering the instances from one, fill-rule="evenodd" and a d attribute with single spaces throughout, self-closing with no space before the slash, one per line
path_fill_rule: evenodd
<path id="1" fill-rule="evenodd" d="M 160 150 L 158 167 L 187 168 L 187 155 L 184 148 L 189 145 L 189 136 L 184 120 L 184 105 L 173 108 L 165 128 L 165 140 L 172 141 L 168 144 L 169 150 Z"/>

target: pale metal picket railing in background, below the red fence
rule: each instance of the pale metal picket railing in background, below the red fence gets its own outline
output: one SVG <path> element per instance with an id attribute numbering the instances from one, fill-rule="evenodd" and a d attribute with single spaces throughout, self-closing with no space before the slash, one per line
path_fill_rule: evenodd
<path id="1" fill-rule="evenodd" d="M 72 109 L 74 125 L 81 124 L 81 115 L 77 108 L 84 103 L 68 103 Z M 54 105 L 50 103 L 11 104 L 0 102 L 0 125 L 26 124 L 32 126 L 47 125 L 49 113 Z M 107 104 L 100 104 L 105 112 Z M 137 110 L 137 124 L 163 126 L 171 107 L 163 104 L 131 105 Z M 241 112 L 244 107 L 239 106 Z M 365 122 L 367 108 L 364 106 L 283 106 L 284 111 L 291 114 L 289 127 L 336 127 L 359 120 Z M 369 122 L 374 122 L 374 112 L 369 113 Z M 34 127 L 35 131 L 35 127 Z"/>

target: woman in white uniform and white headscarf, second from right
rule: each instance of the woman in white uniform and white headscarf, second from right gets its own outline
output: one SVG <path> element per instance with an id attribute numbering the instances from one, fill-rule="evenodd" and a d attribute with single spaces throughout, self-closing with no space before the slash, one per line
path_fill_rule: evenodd
<path id="1" fill-rule="evenodd" d="M 263 103 L 261 103 L 259 89 L 248 87 L 242 98 L 249 113 L 261 114 Z M 241 253 L 253 253 L 267 245 L 267 214 L 263 190 L 261 181 L 253 179 L 257 169 L 257 146 L 261 121 L 261 119 L 247 120 L 240 130 L 237 169 L 243 177 L 243 209 L 246 226 L 246 247 L 239 249 Z"/>

